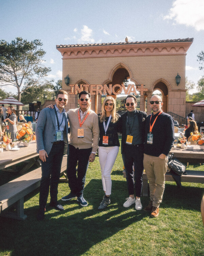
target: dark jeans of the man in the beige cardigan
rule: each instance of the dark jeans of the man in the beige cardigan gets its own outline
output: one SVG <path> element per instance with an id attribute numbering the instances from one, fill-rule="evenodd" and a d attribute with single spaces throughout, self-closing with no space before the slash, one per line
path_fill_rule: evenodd
<path id="1" fill-rule="evenodd" d="M 86 171 L 89 165 L 89 156 L 92 148 L 79 149 L 69 144 L 69 157 L 67 157 L 67 178 L 71 193 L 77 197 L 83 195 L 86 180 Z M 77 167 L 78 161 L 78 168 Z"/>

